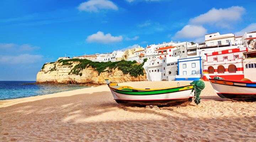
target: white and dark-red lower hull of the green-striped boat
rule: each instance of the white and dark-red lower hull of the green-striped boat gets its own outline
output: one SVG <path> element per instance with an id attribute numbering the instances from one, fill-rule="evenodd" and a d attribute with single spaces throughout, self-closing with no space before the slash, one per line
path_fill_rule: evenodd
<path id="1" fill-rule="evenodd" d="M 138 106 L 138 105 L 187 105 L 192 102 L 192 91 L 188 89 L 184 91 L 177 91 L 164 94 L 150 94 L 150 95 L 131 95 L 121 94 L 111 89 L 114 100 L 118 104 L 126 106 Z"/>

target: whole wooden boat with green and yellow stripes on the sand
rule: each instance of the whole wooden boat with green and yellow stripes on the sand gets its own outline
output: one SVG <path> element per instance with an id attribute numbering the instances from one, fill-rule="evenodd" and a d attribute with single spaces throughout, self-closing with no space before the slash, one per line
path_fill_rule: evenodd
<path id="1" fill-rule="evenodd" d="M 178 86 L 175 88 L 138 89 L 130 86 L 118 86 L 117 83 L 110 83 L 108 80 L 105 81 L 111 90 L 114 100 L 124 106 L 188 105 L 192 102 L 192 98 L 196 92 L 194 86 L 198 84 L 194 82 L 194 84 L 188 86 Z M 200 92 L 197 91 L 199 94 Z M 195 102 L 198 104 L 200 103 L 199 94 L 195 97 Z"/>

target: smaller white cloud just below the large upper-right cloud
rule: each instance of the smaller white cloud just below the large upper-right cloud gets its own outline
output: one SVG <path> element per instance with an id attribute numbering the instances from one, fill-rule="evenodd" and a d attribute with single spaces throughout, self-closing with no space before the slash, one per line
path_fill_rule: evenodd
<path id="1" fill-rule="evenodd" d="M 186 25 L 180 31 L 175 34 L 175 38 L 197 38 L 205 35 L 207 29 L 203 26 Z"/>

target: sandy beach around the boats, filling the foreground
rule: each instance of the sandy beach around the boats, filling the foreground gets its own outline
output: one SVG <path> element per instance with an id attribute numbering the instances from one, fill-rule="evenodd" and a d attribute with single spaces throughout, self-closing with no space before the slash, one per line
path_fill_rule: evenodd
<path id="1" fill-rule="evenodd" d="M 256 141 L 256 102 L 222 99 L 209 82 L 201 103 L 186 107 L 121 107 L 106 86 L 0 101 L 0 141 Z M 135 88 L 177 82 L 127 82 Z M 180 81 L 180 86 L 189 81 Z"/>

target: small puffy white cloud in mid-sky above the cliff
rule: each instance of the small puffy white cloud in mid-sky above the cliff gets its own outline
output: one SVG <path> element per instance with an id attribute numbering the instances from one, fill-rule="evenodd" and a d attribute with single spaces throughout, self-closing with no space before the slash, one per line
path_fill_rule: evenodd
<path id="1" fill-rule="evenodd" d="M 121 42 L 122 40 L 123 40 L 122 35 L 114 37 L 110 33 L 104 34 L 101 31 L 98 31 L 95 34 L 89 35 L 86 39 L 86 41 L 89 43 L 96 42 L 96 43 L 104 43 L 104 44 Z"/>

